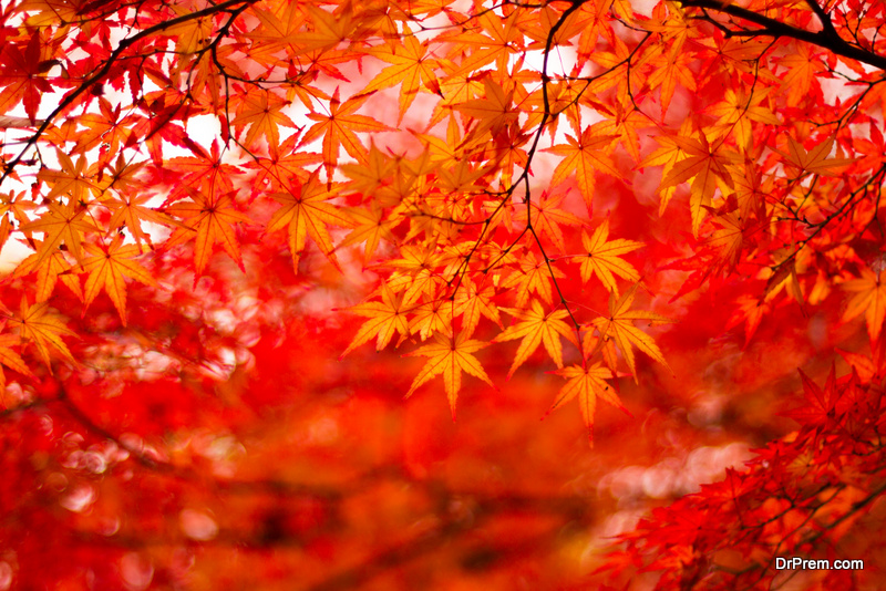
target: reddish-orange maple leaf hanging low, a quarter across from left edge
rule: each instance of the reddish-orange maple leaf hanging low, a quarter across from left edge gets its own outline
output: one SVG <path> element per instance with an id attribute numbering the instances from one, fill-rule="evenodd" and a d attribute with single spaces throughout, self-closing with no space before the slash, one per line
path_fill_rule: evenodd
<path id="1" fill-rule="evenodd" d="M 169 249 L 196 239 L 194 246 L 194 268 L 197 282 L 209 257 L 213 255 L 213 245 L 220 243 L 225 252 L 243 269 L 243 257 L 237 237 L 234 235 L 234 225 L 248 222 L 249 218 L 233 206 L 233 193 L 225 195 L 206 195 L 187 188 L 190 201 L 178 201 L 166 209 L 172 215 L 182 218 L 183 227 L 173 232 L 166 240 L 164 248 Z M 196 234 L 196 236 L 195 236 Z"/>

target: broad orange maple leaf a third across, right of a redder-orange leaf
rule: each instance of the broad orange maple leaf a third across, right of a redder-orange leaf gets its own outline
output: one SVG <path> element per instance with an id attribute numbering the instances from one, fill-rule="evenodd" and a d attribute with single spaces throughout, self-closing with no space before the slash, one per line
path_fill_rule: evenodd
<path id="1" fill-rule="evenodd" d="M 328 226 L 349 228 L 354 222 L 344 209 L 328 203 L 336 197 L 336 194 L 334 188 L 331 191 L 323 188 L 317 180 L 317 173 L 313 173 L 305 185 L 291 187 L 288 193 L 271 195 L 282 207 L 274 212 L 266 231 L 270 234 L 287 228 L 289 252 L 296 272 L 308 236 L 313 239 L 327 259 L 338 266 Z"/>

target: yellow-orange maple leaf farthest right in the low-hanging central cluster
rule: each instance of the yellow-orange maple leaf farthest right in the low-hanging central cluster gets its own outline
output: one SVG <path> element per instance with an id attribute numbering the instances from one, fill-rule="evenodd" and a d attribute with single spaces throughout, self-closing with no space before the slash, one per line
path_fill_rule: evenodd
<path id="1" fill-rule="evenodd" d="M 615 341 L 616 346 L 618 346 L 618 350 L 621 351 L 621 354 L 625 356 L 625 362 L 628 364 L 630 373 L 633 374 L 635 382 L 637 382 L 638 379 L 633 349 L 631 345 L 636 345 L 640 351 L 658 361 L 664 365 L 668 371 L 673 373 L 652 338 L 633 325 L 633 321 L 636 320 L 648 320 L 650 324 L 671 322 L 669 319 L 653 312 L 629 310 L 630 305 L 633 303 L 638 287 L 639 283 L 635 283 L 633 287 L 618 299 L 616 299 L 616 294 L 612 293 L 609 297 L 609 317 L 597 318 L 593 322 L 594 326 L 600 331 L 604 341 L 608 339 Z"/>

